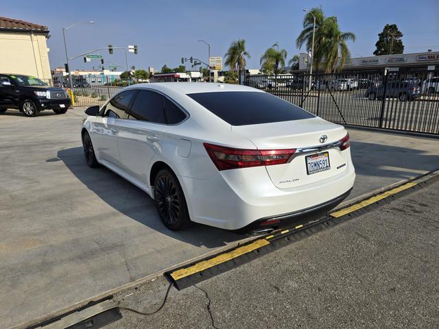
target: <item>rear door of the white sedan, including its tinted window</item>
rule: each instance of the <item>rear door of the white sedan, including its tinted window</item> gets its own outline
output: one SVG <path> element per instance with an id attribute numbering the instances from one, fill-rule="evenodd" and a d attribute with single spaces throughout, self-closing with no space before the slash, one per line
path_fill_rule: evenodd
<path id="1" fill-rule="evenodd" d="M 142 184 L 149 181 L 148 164 L 161 151 L 167 127 L 164 99 L 153 90 L 140 89 L 128 110 L 128 120 L 119 127 L 117 141 L 122 169 Z"/>

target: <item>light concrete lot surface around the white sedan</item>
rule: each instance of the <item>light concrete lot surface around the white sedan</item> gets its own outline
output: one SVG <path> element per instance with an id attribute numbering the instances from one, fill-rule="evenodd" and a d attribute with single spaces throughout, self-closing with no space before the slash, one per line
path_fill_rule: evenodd
<path id="1" fill-rule="evenodd" d="M 247 239 L 201 225 L 167 230 L 143 191 L 86 166 L 83 111 L 0 114 L 1 328 Z M 351 198 L 439 167 L 437 139 L 349 133 L 357 171 Z"/>

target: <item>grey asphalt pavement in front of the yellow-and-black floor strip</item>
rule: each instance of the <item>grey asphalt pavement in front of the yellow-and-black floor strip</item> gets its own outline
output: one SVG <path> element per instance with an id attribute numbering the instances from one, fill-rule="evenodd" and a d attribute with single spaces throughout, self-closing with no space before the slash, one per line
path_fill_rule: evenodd
<path id="1" fill-rule="evenodd" d="M 105 328 L 439 328 L 438 199 L 436 181 Z M 150 312 L 167 285 L 115 300 Z"/>

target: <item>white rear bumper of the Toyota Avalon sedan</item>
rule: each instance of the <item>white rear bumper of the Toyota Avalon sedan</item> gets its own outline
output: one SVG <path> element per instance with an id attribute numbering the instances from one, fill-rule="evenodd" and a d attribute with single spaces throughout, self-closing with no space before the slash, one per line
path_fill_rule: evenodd
<path id="1" fill-rule="evenodd" d="M 351 160 L 344 171 L 331 178 L 285 189 L 274 186 L 265 167 L 239 170 L 218 172 L 209 180 L 178 177 L 192 221 L 239 230 L 257 226 L 261 219 L 298 217 L 304 215 L 300 212 L 317 210 L 320 205 L 326 205 L 327 211 L 348 195 L 355 181 Z"/>

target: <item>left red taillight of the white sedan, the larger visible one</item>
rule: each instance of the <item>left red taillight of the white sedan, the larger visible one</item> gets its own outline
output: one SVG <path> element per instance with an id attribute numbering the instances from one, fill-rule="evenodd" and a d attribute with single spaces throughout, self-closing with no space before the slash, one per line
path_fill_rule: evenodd
<path id="1" fill-rule="evenodd" d="M 234 149 L 208 143 L 203 145 L 219 171 L 284 164 L 296 151 L 296 149 Z"/>

